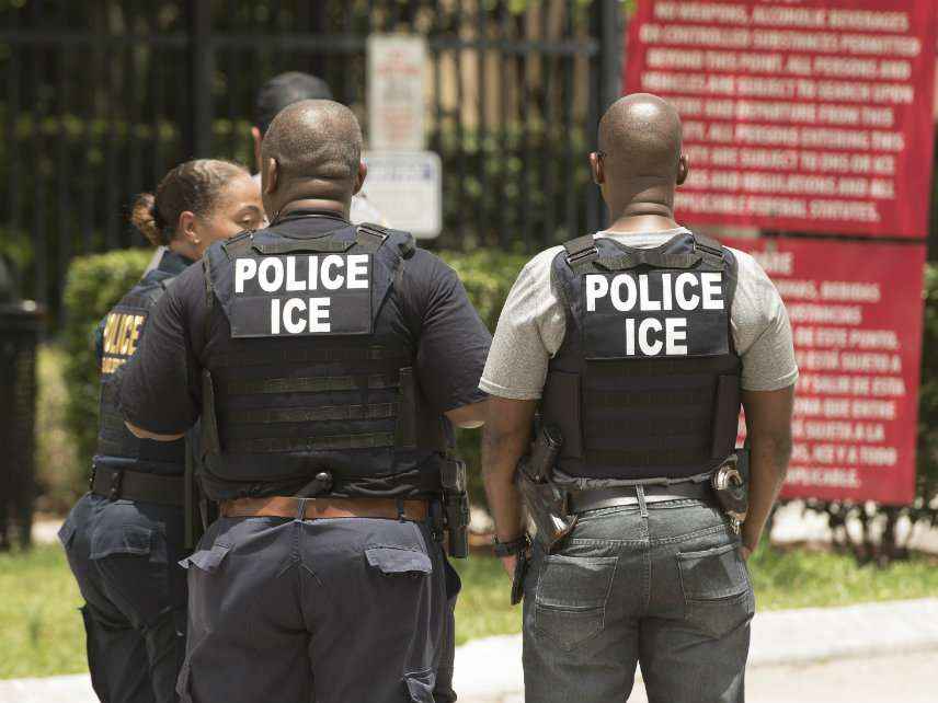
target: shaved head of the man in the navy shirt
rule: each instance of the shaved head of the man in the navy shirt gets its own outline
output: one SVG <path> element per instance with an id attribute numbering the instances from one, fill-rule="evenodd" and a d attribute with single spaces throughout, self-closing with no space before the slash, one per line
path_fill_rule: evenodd
<path id="1" fill-rule="evenodd" d="M 304 100 L 274 117 L 261 146 L 264 192 L 271 160 L 275 189 L 306 197 L 347 200 L 362 159 L 362 129 L 351 110 L 331 100 Z M 296 193 L 290 193 L 296 197 Z"/>

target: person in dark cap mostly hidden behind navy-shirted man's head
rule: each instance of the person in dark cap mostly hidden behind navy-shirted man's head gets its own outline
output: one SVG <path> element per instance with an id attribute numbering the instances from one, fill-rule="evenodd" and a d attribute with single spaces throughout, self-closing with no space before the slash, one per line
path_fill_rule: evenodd
<path id="1" fill-rule="evenodd" d="M 258 174 L 254 178 L 258 183 L 261 182 L 261 145 L 264 141 L 264 135 L 267 134 L 267 128 L 277 113 L 301 100 L 333 100 L 332 91 L 321 78 L 300 71 L 289 71 L 275 76 L 258 91 L 254 125 L 251 127 L 251 137 L 254 140 L 254 159 L 258 163 Z M 387 227 L 388 222 L 368 199 L 365 188 L 367 186 L 363 185 L 362 189 L 352 196 L 350 221 L 353 224 L 370 222 Z M 273 218 L 273 216 L 274 214 L 271 212 L 270 217 Z"/>

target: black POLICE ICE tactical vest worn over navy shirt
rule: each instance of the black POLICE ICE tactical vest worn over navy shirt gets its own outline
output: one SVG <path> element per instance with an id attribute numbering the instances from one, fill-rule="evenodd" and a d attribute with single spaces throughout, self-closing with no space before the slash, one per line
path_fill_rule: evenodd
<path id="1" fill-rule="evenodd" d="M 333 495 L 435 494 L 444 418 L 423 408 L 394 293 L 413 238 L 336 218 L 307 231 L 310 217 L 327 216 L 245 232 L 203 260 L 230 327 L 205 359 L 206 491 L 302 494 L 329 471 Z"/>

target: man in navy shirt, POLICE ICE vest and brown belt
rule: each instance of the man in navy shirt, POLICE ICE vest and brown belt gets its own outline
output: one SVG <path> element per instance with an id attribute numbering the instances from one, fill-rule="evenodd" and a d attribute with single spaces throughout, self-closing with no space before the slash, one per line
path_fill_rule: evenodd
<path id="1" fill-rule="evenodd" d="M 348 222 L 361 146 L 338 103 L 277 115 L 271 226 L 178 279 L 124 374 L 136 434 L 201 418 L 220 503 L 185 561 L 184 701 L 434 700 L 468 515 L 451 426 L 483 419 L 491 339 L 453 269 Z"/>

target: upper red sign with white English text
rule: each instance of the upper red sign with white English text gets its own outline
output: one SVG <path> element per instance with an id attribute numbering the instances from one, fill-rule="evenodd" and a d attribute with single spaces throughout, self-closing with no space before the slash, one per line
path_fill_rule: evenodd
<path id="1" fill-rule="evenodd" d="M 626 92 L 684 119 L 679 219 L 924 238 L 934 0 L 639 0 Z"/>

